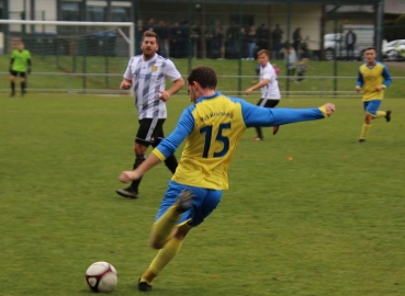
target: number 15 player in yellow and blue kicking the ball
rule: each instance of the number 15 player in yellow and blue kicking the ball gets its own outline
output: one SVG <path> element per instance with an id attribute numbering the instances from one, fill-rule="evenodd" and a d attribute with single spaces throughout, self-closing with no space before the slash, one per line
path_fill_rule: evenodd
<path id="1" fill-rule="evenodd" d="M 246 128 L 320 119 L 335 111 L 330 103 L 301 110 L 268 109 L 226 96 L 215 90 L 216 73 L 206 66 L 192 69 L 187 80 L 193 104 L 138 168 L 119 177 L 124 183 L 139 179 L 185 140 L 150 232 L 151 247 L 160 251 L 138 281 L 143 292 L 151 289 L 153 280 L 180 250 L 190 229 L 200 225 L 221 202 L 222 191 L 228 189 L 228 167 Z"/>

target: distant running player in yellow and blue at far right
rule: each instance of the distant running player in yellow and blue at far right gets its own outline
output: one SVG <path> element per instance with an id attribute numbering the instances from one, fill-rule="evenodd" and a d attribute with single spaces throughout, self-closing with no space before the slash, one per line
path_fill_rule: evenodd
<path id="1" fill-rule="evenodd" d="M 379 111 L 381 101 L 384 99 L 384 90 L 391 84 L 392 79 L 386 66 L 378 60 L 374 46 L 365 48 L 367 62 L 359 68 L 356 91 L 363 89 L 364 124 L 361 129 L 359 143 L 364 143 L 371 127 L 371 121 L 385 117 L 391 121 L 391 110 Z"/>

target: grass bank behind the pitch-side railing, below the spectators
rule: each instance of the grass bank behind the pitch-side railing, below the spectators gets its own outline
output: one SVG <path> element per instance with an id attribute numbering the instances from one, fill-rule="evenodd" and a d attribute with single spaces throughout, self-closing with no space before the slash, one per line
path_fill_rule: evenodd
<path id="1" fill-rule="evenodd" d="M 56 89 L 60 92 L 66 92 L 66 89 L 81 91 L 83 88 L 83 79 L 80 76 L 40 76 L 35 72 L 82 72 L 82 57 L 77 57 L 74 60 L 72 57 L 57 57 L 55 56 L 36 56 L 33 57 L 33 75 L 29 77 L 29 88 L 33 89 Z M 188 59 L 173 59 L 177 68 L 182 75 L 189 72 L 189 67 L 198 65 L 207 65 L 215 69 L 218 76 L 233 76 L 222 78 L 218 88 L 227 91 L 232 94 L 237 94 L 240 83 L 240 90 L 245 90 L 252 86 L 252 79 L 256 75 L 255 67 L 257 61 L 243 60 L 241 61 L 241 76 L 244 78 L 235 77 L 239 72 L 239 60 L 213 60 L 213 59 L 192 59 L 189 64 Z M 9 57 L 7 55 L 0 56 L 1 69 L 8 69 Z M 88 73 L 115 73 L 117 77 L 88 77 L 86 86 L 88 89 L 110 89 L 117 90 L 122 80 L 122 73 L 125 71 L 127 65 L 127 58 L 109 57 L 109 66 L 105 66 L 105 58 L 103 57 L 87 57 L 87 72 Z M 74 64 L 76 64 L 76 71 L 74 71 Z M 277 60 L 275 64 L 281 68 L 281 76 L 286 75 L 285 65 L 282 60 Z M 337 80 L 336 88 L 338 91 L 345 91 L 346 95 L 352 94 L 356 86 L 356 77 L 358 68 L 361 62 L 337 62 L 337 75 L 340 77 Z M 391 75 L 393 77 L 405 77 L 405 70 L 394 67 L 390 67 Z M 314 77 L 333 77 L 334 76 L 334 62 L 331 61 L 311 61 L 310 69 L 306 76 Z M 351 77 L 351 78 L 350 78 Z M 404 79 L 397 79 L 390 87 L 391 98 L 403 98 L 402 82 Z M 331 78 L 315 78 L 306 79 L 300 86 L 289 83 L 285 78 L 279 79 L 280 90 L 290 91 L 290 94 L 299 95 L 333 95 L 335 90 L 335 80 Z M 0 77 L 0 90 L 8 92 L 10 89 L 10 82 L 8 76 Z M 311 93 L 308 93 L 308 91 Z M 304 93 L 306 92 L 306 93 Z"/>

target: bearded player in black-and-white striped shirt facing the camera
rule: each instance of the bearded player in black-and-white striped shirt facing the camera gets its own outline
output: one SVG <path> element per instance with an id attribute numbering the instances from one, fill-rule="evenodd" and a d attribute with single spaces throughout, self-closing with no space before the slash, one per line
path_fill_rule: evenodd
<path id="1" fill-rule="evenodd" d="M 159 49 L 159 36 L 155 32 L 144 33 L 140 49 L 142 55 L 131 58 L 120 86 L 123 90 L 134 89 L 135 106 L 138 112 L 139 127 L 134 145 L 134 170 L 146 159 L 147 148 L 149 146 L 155 148 L 165 137 L 164 123 L 167 117 L 165 102 L 184 86 L 184 80 L 175 64 L 156 54 Z M 166 78 L 173 82 L 168 90 L 165 90 Z M 169 156 L 165 164 L 175 173 L 178 164 L 175 155 Z M 134 180 L 128 187 L 116 190 L 116 193 L 124 197 L 137 198 L 139 183 L 140 179 Z"/>

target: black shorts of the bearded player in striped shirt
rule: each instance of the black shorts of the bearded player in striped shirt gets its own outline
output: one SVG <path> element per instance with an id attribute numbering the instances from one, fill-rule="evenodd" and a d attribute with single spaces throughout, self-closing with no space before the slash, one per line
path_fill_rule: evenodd
<path id="1" fill-rule="evenodd" d="M 165 138 L 164 123 L 166 119 L 159 118 L 143 118 L 139 121 L 138 132 L 136 134 L 135 143 L 143 146 L 156 147 L 159 141 Z"/>

